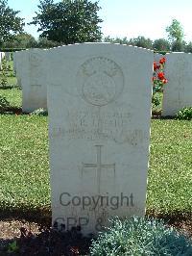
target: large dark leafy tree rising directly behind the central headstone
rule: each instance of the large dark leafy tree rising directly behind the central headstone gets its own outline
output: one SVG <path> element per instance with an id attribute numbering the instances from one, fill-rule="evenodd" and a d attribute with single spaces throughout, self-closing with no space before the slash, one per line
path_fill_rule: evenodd
<path id="1" fill-rule="evenodd" d="M 37 25 L 40 37 L 63 42 L 64 44 L 99 41 L 102 38 L 98 25 L 102 20 L 98 16 L 98 1 L 40 0 L 38 12 L 29 24 Z"/>

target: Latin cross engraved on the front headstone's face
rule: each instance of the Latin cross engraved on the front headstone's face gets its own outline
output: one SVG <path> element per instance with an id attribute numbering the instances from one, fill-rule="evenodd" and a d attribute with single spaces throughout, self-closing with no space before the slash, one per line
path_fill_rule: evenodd
<path id="1" fill-rule="evenodd" d="M 95 145 L 97 148 L 97 163 L 96 164 L 84 164 L 83 168 L 96 168 L 97 169 L 97 186 L 98 192 L 100 192 L 100 182 L 101 182 L 101 171 L 102 168 L 113 168 L 115 170 L 115 164 L 102 164 L 102 146 Z"/>

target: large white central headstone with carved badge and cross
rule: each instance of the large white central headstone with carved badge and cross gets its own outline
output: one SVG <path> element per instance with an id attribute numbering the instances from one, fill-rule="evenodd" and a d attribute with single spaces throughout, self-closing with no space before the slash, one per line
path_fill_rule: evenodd
<path id="1" fill-rule="evenodd" d="M 145 214 L 150 50 L 108 43 L 47 51 L 53 223 L 97 233 Z"/>

